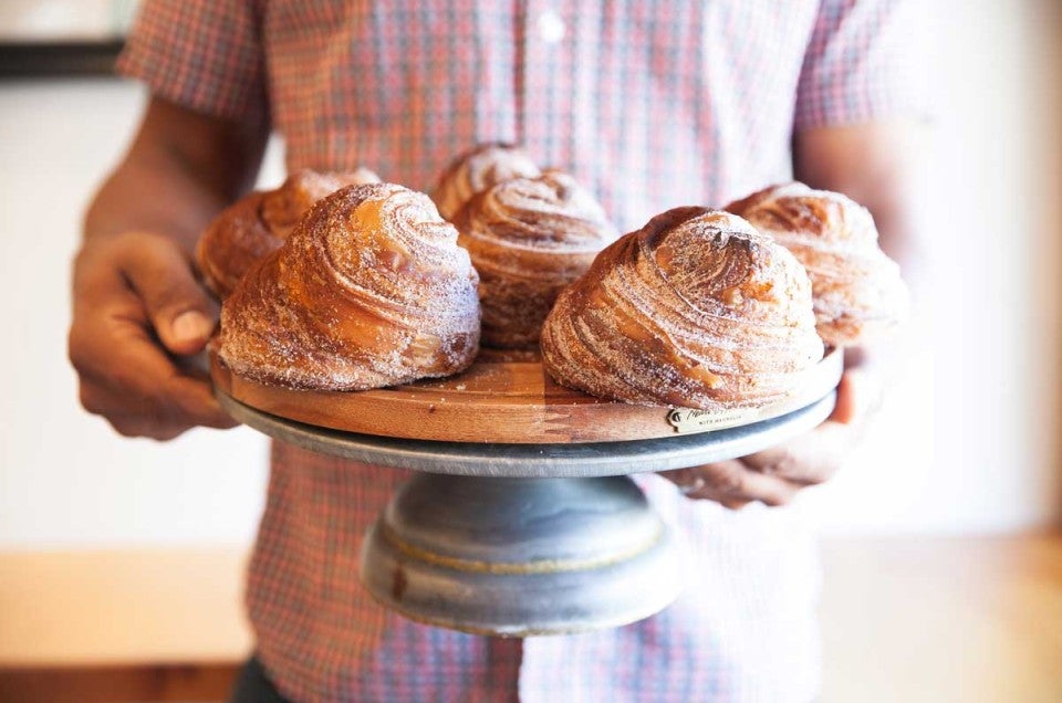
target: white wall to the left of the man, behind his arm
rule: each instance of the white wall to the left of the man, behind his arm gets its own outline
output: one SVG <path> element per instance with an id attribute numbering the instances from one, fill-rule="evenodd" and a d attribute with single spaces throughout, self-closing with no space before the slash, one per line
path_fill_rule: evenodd
<path id="1" fill-rule="evenodd" d="M 126 440 L 76 402 L 65 358 L 71 258 L 85 203 L 143 99 L 136 85 L 110 80 L 0 84 L 0 548 L 253 535 L 261 437 L 241 428 L 169 444 Z"/>

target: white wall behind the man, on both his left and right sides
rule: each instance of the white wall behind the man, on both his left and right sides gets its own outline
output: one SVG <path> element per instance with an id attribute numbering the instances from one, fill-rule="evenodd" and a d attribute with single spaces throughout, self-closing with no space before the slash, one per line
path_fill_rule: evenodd
<path id="1" fill-rule="evenodd" d="M 934 298 L 906 387 L 861 461 L 803 500 L 830 532 L 998 531 L 1058 516 L 1058 6 L 933 4 Z M 76 405 L 70 259 L 142 99 L 115 81 L 0 84 L 0 548 L 253 535 L 260 437 L 126 440 Z M 275 154 L 271 164 L 274 181 Z"/>

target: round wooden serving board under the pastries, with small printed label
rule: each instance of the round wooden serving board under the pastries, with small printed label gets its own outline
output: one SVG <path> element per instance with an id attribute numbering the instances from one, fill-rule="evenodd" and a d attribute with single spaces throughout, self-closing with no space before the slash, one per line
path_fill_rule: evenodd
<path id="1" fill-rule="evenodd" d="M 214 353 L 215 386 L 252 408 L 306 424 L 402 439 L 496 442 L 612 442 L 706 432 L 777 418 L 829 394 L 842 354 L 809 369 L 793 396 L 762 408 L 707 412 L 635 406 L 558 385 L 535 353 L 485 349 L 457 376 L 374 390 L 293 390 L 237 376 Z"/>

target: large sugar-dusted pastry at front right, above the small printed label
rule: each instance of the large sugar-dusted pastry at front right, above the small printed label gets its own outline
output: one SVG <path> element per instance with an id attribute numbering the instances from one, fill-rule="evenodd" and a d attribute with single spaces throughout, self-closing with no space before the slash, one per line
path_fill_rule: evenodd
<path id="1" fill-rule="evenodd" d="M 664 212 L 605 249 L 542 329 L 543 363 L 564 386 L 705 410 L 781 399 L 822 354 L 800 263 L 706 208 Z"/>

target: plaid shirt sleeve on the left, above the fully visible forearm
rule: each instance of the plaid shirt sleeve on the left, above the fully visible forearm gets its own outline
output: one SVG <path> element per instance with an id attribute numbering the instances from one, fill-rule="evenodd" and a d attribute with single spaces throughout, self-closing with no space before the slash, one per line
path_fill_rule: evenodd
<path id="1" fill-rule="evenodd" d="M 256 0 L 147 0 L 117 71 L 200 113 L 261 116 L 268 103 L 259 15 Z"/>

